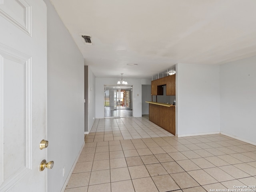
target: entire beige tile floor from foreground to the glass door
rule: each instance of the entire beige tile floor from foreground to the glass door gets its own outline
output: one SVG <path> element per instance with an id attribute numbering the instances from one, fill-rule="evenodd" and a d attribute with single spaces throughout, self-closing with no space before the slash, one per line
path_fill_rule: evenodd
<path id="1" fill-rule="evenodd" d="M 65 192 L 255 190 L 256 146 L 221 134 L 174 137 L 145 117 L 96 119 Z"/>

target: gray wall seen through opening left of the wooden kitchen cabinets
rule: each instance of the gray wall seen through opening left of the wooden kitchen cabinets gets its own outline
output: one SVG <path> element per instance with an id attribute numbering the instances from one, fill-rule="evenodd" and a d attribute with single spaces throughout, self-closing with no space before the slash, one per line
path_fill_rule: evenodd
<path id="1" fill-rule="evenodd" d="M 151 101 L 151 85 L 142 85 L 142 114 L 149 114 L 149 104 L 146 101 Z"/>

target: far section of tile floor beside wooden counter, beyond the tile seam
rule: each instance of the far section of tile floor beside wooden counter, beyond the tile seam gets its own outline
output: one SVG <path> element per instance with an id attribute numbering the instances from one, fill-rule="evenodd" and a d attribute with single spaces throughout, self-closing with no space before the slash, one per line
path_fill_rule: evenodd
<path id="1" fill-rule="evenodd" d="M 173 136 L 145 117 L 96 119 L 85 142 Z"/>

